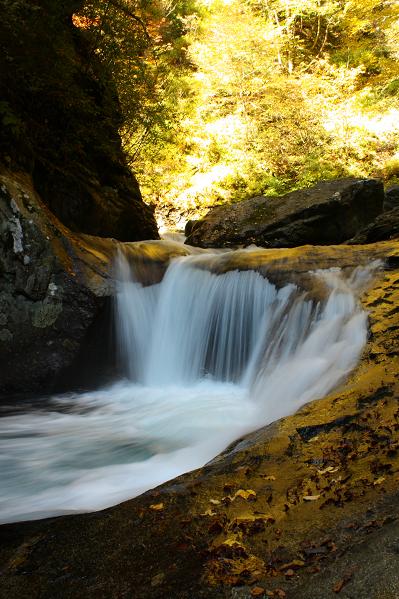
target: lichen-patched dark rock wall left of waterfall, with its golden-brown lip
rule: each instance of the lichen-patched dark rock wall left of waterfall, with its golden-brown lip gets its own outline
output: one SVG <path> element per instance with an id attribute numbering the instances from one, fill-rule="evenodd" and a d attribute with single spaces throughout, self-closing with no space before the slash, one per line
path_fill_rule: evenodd
<path id="1" fill-rule="evenodd" d="M 30 177 L 0 175 L 0 394 L 98 386 L 117 374 L 112 298 L 121 247 L 144 284 L 188 253 L 173 242 L 72 233 Z"/>

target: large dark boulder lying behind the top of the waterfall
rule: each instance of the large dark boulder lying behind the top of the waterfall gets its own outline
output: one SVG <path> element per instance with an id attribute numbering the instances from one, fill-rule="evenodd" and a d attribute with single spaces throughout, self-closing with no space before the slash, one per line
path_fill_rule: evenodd
<path id="1" fill-rule="evenodd" d="M 295 247 L 339 244 L 353 237 L 383 209 L 376 179 L 322 181 L 280 197 L 258 196 L 217 206 L 191 224 L 186 243 L 200 247 Z"/>

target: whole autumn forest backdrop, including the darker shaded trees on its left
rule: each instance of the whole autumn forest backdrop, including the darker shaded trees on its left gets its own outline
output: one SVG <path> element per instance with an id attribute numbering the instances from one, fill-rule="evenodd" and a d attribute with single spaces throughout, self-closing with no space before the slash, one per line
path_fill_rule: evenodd
<path id="1" fill-rule="evenodd" d="M 144 197 L 177 213 L 340 176 L 399 179 L 399 5 L 90 0 Z"/>

